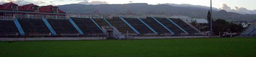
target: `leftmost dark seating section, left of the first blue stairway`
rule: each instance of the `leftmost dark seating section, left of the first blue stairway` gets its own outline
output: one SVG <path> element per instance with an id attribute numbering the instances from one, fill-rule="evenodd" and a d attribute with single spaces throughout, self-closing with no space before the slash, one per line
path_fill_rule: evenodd
<path id="1" fill-rule="evenodd" d="M 0 20 L 0 36 L 18 35 L 18 28 L 12 20 Z"/>

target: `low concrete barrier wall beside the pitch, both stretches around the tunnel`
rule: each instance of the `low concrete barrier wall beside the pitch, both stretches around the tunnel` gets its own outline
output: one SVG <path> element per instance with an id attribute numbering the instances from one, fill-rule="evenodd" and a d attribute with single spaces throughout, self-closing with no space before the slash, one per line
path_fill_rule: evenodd
<path id="1" fill-rule="evenodd" d="M 172 38 L 208 38 L 219 36 L 159 36 L 159 37 L 133 37 L 129 39 L 172 39 Z M 49 38 L 0 38 L 0 41 L 39 41 L 39 40 L 104 40 L 105 37 L 49 37 Z"/>

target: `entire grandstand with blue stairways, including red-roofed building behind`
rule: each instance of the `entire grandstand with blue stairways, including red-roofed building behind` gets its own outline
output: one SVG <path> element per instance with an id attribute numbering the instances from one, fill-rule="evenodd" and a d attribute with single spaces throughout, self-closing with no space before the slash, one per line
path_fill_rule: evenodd
<path id="1" fill-rule="evenodd" d="M 161 14 L 66 13 L 53 5 L 0 5 L 0 37 L 201 36 L 182 17 Z"/>

